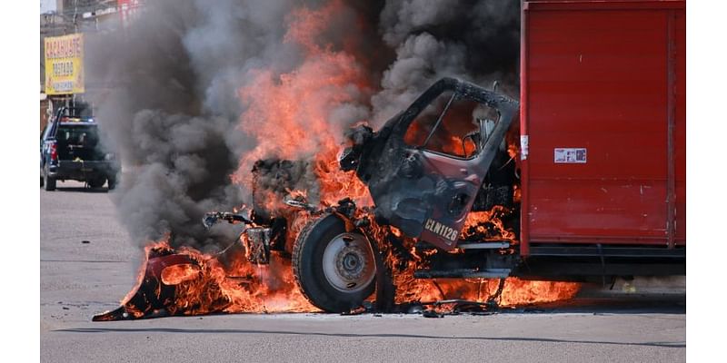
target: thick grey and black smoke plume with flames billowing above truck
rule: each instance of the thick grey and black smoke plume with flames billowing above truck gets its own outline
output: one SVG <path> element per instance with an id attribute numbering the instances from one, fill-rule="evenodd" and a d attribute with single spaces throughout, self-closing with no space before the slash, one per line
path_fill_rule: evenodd
<path id="1" fill-rule="evenodd" d="M 169 236 L 219 249 L 234 231 L 204 231 L 201 217 L 252 201 L 254 162 L 311 168 L 298 186 L 315 196 L 322 146 L 355 123 L 380 125 L 437 78 L 498 80 L 516 95 L 519 10 L 508 0 L 144 2 L 124 31 L 88 41 L 87 78 L 100 90 L 89 98 L 124 167 L 120 219 L 140 245 Z"/>

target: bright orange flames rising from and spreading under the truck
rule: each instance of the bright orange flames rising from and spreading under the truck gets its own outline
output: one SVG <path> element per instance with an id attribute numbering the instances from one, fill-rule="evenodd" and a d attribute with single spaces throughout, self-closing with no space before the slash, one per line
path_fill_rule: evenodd
<path id="1" fill-rule="evenodd" d="M 291 23 L 284 41 L 298 44 L 304 51 L 304 61 L 294 71 L 275 74 L 271 69 L 260 68 L 252 72 L 239 95 L 246 106 L 240 120 L 243 132 L 255 139 L 255 147 L 247 152 L 232 175 L 234 182 L 250 190 L 253 185 L 250 170 L 255 161 L 274 157 L 287 160 L 312 160 L 312 168 L 318 179 L 321 205 L 334 205 L 349 197 L 359 206 L 371 206 L 373 201 L 363 182 L 354 172 L 342 172 L 337 156 L 341 152 L 344 128 L 363 120 L 347 120 L 334 123 L 333 111 L 344 104 L 361 104 L 371 91 L 364 69 L 356 57 L 345 51 L 334 50 L 331 44 L 319 44 L 319 36 L 329 20 L 342 11 L 344 5 L 334 0 L 320 9 L 302 7 L 291 15 Z M 453 148 L 463 149 L 460 141 L 453 141 Z M 465 152 L 462 150 L 462 152 Z M 510 150 L 516 152 L 516 148 Z M 308 191 L 289 191 L 292 196 L 307 199 Z M 519 192 L 519 191 L 518 191 Z M 265 207 L 279 210 L 280 198 L 272 192 L 263 192 Z M 514 240 L 513 231 L 507 231 L 495 211 L 473 212 L 468 216 L 465 231 L 483 231 L 483 223 L 489 222 L 497 231 L 492 238 Z M 290 245 L 310 220 L 304 211 L 286 211 L 288 240 Z M 401 237 L 401 232 L 374 224 L 376 237 L 391 231 Z M 235 243 L 240 245 L 243 241 Z M 408 241 L 413 250 L 413 241 Z M 168 246 L 157 242 L 151 248 Z M 273 254 L 269 265 L 258 266 L 245 258 L 244 249 L 234 249 L 225 256 L 231 262 L 223 263 L 218 256 L 203 254 L 193 249 L 179 250 L 199 263 L 181 265 L 164 270 L 164 283 L 176 287 L 176 309 L 184 314 L 200 314 L 210 311 L 227 312 L 280 312 L 317 311 L 298 289 L 291 268 L 291 261 Z M 431 251 L 422 252 L 433 253 Z M 386 263 L 394 271 L 397 287 L 397 303 L 413 300 L 473 299 L 483 301 L 497 288 L 497 280 L 416 280 L 413 271 L 422 261 L 416 251 L 408 259 L 389 253 Z M 140 273 L 140 283 L 144 271 Z M 577 292 L 577 284 L 557 282 L 533 282 L 508 279 L 503 289 L 502 303 L 514 305 L 535 301 L 569 299 Z M 124 298 L 128 300 L 130 296 Z"/>

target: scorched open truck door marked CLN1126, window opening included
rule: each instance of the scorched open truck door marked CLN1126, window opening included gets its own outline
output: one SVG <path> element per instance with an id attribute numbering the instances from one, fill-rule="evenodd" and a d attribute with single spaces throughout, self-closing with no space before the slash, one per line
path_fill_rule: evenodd
<path id="1" fill-rule="evenodd" d="M 379 224 L 453 250 L 517 112 L 513 99 L 443 78 L 379 132 L 354 131 L 341 167 L 368 185 Z"/>

